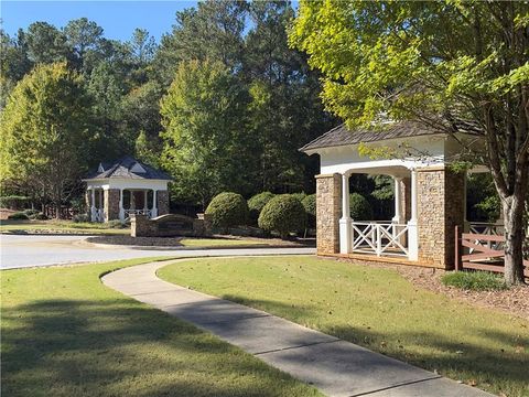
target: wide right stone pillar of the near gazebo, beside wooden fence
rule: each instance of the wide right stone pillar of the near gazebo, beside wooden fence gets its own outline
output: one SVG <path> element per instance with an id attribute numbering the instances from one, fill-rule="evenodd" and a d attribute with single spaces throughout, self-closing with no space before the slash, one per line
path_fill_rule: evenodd
<path id="1" fill-rule="evenodd" d="M 419 260 L 453 269 L 455 226 L 464 225 L 464 173 L 446 168 L 417 173 Z"/>

